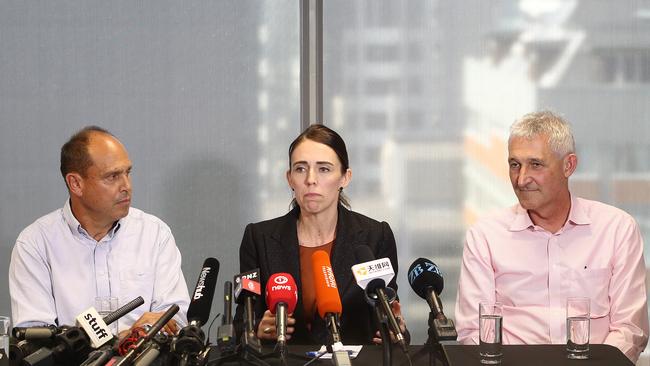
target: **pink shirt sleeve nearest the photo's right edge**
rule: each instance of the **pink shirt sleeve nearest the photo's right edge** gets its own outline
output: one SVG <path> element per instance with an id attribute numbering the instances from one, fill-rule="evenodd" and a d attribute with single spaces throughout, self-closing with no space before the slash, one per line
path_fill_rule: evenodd
<path id="1" fill-rule="evenodd" d="M 648 309 L 643 239 L 632 217 L 619 228 L 609 285 L 610 324 L 606 344 L 636 362 L 648 343 Z"/>

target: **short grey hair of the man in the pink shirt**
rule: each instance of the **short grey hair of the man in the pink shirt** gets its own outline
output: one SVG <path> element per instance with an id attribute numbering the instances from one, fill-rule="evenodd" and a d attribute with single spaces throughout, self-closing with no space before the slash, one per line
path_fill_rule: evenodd
<path id="1" fill-rule="evenodd" d="M 510 138 L 532 139 L 539 135 L 548 137 L 551 150 L 559 157 L 574 154 L 576 147 L 571 126 L 564 118 L 551 111 L 528 113 L 510 126 Z"/>

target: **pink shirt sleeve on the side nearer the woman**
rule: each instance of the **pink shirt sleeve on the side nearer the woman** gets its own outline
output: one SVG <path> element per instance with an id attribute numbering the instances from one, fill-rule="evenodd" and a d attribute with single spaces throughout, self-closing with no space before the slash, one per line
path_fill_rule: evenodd
<path id="1" fill-rule="evenodd" d="M 478 227 L 467 231 L 456 298 L 456 329 L 461 344 L 478 344 L 478 304 L 495 301 L 494 270 L 487 238 Z"/>

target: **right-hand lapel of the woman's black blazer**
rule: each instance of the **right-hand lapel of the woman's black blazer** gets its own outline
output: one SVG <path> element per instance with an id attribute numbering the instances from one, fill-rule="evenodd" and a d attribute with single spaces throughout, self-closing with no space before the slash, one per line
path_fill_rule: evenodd
<path id="1" fill-rule="evenodd" d="M 354 282 L 351 267 L 356 264 L 354 248 L 359 244 L 359 238 L 363 238 L 365 229 L 352 220 L 352 214 L 345 207 L 339 206 L 339 215 L 336 223 L 336 240 L 332 248 L 332 269 L 336 284 L 341 296 L 345 294 Z"/>

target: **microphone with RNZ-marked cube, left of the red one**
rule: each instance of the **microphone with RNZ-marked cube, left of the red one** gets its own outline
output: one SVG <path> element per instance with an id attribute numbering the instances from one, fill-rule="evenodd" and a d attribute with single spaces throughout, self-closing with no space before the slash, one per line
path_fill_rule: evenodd
<path id="1" fill-rule="evenodd" d="M 241 344 L 244 351 L 249 349 L 257 354 L 262 353 L 262 344 L 255 334 L 255 311 L 253 309 L 255 300 L 260 296 L 260 269 L 255 268 L 248 272 L 236 275 L 234 297 L 239 305 L 244 304 L 244 333 L 241 336 Z"/>

